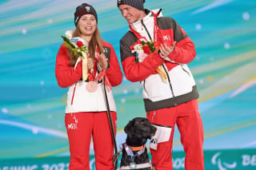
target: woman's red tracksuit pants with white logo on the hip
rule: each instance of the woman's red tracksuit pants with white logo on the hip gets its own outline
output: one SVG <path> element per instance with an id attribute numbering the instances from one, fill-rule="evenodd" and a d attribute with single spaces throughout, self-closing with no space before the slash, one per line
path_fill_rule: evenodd
<path id="1" fill-rule="evenodd" d="M 116 132 L 117 113 L 111 112 Z M 65 124 L 70 142 L 70 170 L 90 170 L 90 140 L 93 137 L 95 166 L 113 170 L 114 145 L 106 112 L 67 113 Z"/>

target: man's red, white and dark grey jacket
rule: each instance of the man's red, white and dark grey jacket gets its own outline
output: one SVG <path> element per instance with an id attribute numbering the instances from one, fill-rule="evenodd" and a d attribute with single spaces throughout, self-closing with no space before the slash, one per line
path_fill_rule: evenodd
<path id="1" fill-rule="evenodd" d="M 165 60 L 154 51 L 144 61 L 134 62 L 136 53 L 130 48 L 138 38 L 130 30 L 120 40 L 122 68 L 129 81 L 141 82 L 146 111 L 169 108 L 199 97 L 194 77 L 186 65 L 196 55 L 194 43 L 173 18 L 162 17 L 160 11 L 154 11 L 157 13 L 158 42 L 170 46 L 176 41 L 174 51 Z M 147 10 L 145 18 L 130 25 L 147 41 L 154 40 L 154 14 Z M 159 65 L 166 72 L 167 83 L 155 72 Z"/>

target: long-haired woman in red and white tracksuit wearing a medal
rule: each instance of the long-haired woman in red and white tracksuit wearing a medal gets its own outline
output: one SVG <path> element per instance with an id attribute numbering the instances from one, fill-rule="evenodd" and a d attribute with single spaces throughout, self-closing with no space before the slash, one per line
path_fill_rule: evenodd
<path id="1" fill-rule="evenodd" d="M 87 60 L 80 61 L 66 45 L 58 50 L 55 74 L 58 85 L 69 87 L 66 100 L 66 130 L 70 143 L 69 169 L 90 169 L 90 140 L 93 136 L 96 169 L 114 169 L 114 144 L 107 117 L 104 85 L 116 131 L 117 113 L 111 86 L 122 83 L 122 72 L 114 48 L 103 42 L 98 31 L 97 13 L 83 3 L 74 13 L 76 29 L 72 38 L 79 38 L 87 47 Z M 82 81 L 87 63 L 87 78 Z M 106 71 L 106 73 L 105 73 Z M 105 78 L 102 78 L 105 75 Z M 105 81 L 104 81 L 105 80 Z"/>

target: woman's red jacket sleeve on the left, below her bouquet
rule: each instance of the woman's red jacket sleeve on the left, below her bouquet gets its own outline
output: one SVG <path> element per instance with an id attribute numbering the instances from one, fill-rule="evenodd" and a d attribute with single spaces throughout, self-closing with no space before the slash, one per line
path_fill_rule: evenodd
<path id="1" fill-rule="evenodd" d="M 67 54 L 67 48 L 62 44 L 58 49 L 55 65 L 55 76 L 58 85 L 66 88 L 73 85 L 82 78 L 82 62 L 80 61 L 74 70 L 74 67 L 69 65 L 70 57 Z"/>

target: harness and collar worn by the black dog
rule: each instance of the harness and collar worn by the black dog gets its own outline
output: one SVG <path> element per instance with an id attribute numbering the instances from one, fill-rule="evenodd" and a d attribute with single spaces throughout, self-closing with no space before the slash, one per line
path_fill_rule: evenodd
<path id="1" fill-rule="evenodd" d="M 130 156 L 131 163 L 130 166 L 122 166 L 120 169 L 135 169 L 135 168 L 149 168 L 151 167 L 150 163 L 145 163 L 145 164 L 135 164 L 134 162 L 134 157 L 135 156 L 140 156 L 142 155 L 143 152 L 145 152 L 146 144 L 143 144 L 142 146 L 139 147 L 131 147 L 128 146 L 126 143 L 122 144 L 122 148 L 126 149 L 126 153 L 128 156 Z M 133 151 L 138 151 L 135 153 Z"/>

